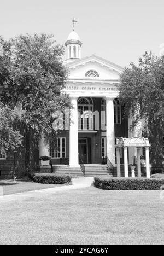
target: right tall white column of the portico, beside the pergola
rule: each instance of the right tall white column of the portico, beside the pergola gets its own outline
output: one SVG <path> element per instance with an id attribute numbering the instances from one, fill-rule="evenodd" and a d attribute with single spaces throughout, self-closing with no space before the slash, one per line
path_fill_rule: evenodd
<path id="1" fill-rule="evenodd" d="M 107 115 L 107 157 L 115 165 L 114 104 L 113 98 L 106 98 Z"/>

